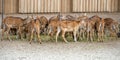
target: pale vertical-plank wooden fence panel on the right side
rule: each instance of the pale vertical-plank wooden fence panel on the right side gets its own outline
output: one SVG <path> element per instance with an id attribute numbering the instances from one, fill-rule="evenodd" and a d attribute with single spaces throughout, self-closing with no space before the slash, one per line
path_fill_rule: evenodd
<path id="1" fill-rule="evenodd" d="M 117 12 L 118 0 L 73 0 L 73 12 Z"/>

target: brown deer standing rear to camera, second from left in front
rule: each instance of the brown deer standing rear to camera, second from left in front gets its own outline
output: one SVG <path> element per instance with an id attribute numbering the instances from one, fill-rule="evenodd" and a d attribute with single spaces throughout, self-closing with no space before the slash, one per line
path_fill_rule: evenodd
<path id="1" fill-rule="evenodd" d="M 37 17 L 36 19 L 31 18 L 30 21 L 24 25 L 25 26 L 25 31 L 30 34 L 30 44 L 33 40 L 33 35 L 36 34 L 39 43 L 41 44 L 41 39 L 40 39 L 40 17 Z"/>

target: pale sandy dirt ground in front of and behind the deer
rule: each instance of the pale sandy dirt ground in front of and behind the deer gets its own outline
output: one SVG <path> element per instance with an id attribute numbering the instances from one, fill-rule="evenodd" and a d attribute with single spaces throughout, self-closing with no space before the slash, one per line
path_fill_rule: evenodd
<path id="1" fill-rule="evenodd" d="M 81 14 L 83 13 L 73 13 L 72 15 Z M 103 18 L 111 17 L 120 21 L 120 13 L 87 13 L 89 17 L 96 14 Z M 43 15 L 50 18 L 55 14 Z M 12 14 L 12 16 L 25 18 L 27 14 Z M 0 60 L 120 60 L 120 39 L 103 43 L 48 41 L 42 44 L 37 42 L 29 44 L 28 41 L 22 40 L 3 40 L 0 41 Z"/>

